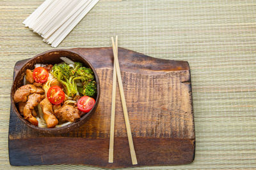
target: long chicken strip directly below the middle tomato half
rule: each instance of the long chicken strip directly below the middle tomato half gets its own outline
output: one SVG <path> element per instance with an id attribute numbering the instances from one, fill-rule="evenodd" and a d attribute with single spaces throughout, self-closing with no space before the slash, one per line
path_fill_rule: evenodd
<path id="1" fill-rule="evenodd" d="M 52 104 L 47 99 L 47 97 L 45 97 L 45 99 L 40 102 L 40 106 L 42 107 L 44 120 L 47 124 L 47 127 L 51 128 L 58 125 L 58 119 L 53 115 Z"/>

